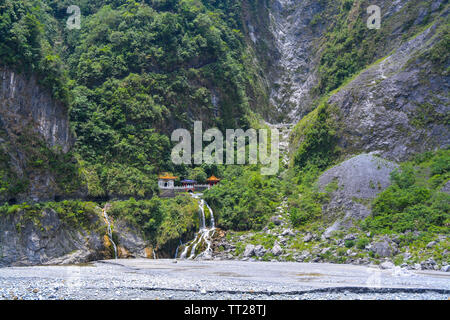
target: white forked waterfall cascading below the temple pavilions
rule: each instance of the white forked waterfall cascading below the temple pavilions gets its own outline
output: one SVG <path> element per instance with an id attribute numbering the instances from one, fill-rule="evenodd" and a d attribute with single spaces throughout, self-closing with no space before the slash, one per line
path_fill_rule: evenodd
<path id="1" fill-rule="evenodd" d="M 180 255 L 180 259 L 194 259 L 194 258 L 203 258 L 203 259 L 209 259 L 212 257 L 212 250 L 211 250 L 211 238 L 214 235 L 215 232 L 215 220 L 214 220 L 214 213 L 211 209 L 211 207 L 205 202 L 205 200 L 200 198 L 201 194 L 193 194 L 192 197 L 199 200 L 199 220 L 200 220 L 200 230 L 195 235 L 194 240 L 188 242 L 186 246 L 184 247 L 183 252 Z M 205 209 L 204 207 L 208 208 L 211 219 L 210 219 L 210 226 L 206 226 L 206 218 L 205 218 Z M 199 245 L 202 243 L 206 244 L 206 249 L 203 252 L 200 252 L 196 254 L 196 249 Z M 189 253 L 189 257 L 187 257 Z M 178 248 L 176 250 L 175 258 L 178 257 Z"/>

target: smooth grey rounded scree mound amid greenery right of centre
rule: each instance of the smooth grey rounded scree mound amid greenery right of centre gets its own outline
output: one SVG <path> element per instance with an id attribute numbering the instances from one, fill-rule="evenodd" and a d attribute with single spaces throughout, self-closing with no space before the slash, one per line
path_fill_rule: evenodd
<path id="1" fill-rule="evenodd" d="M 371 212 L 368 203 L 390 185 L 390 173 L 396 168 L 394 162 L 362 154 L 325 171 L 318 185 L 322 191 L 330 192 L 331 200 L 323 211 L 335 220 L 325 231 L 325 237 L 351 227 L 352 219 L 368 217 Z"/>

